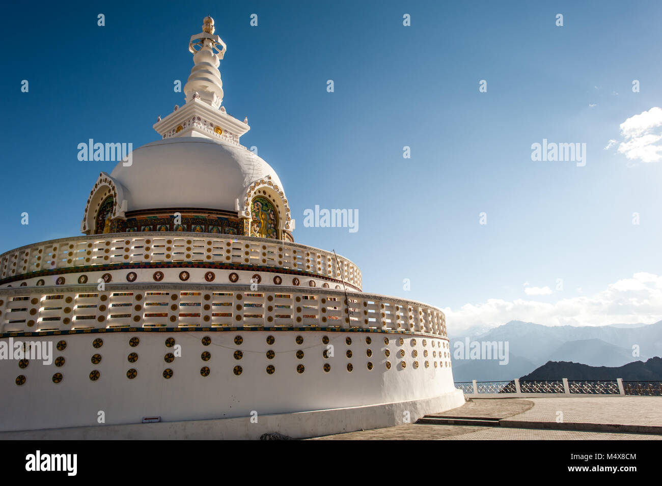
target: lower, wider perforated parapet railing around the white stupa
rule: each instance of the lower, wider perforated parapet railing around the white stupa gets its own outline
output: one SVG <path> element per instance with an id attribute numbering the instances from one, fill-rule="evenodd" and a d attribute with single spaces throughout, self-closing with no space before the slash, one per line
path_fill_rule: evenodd
<path id="1" fill-rule="evenodd" d="M 446 337 L 444 313 L 377 294 L 294 286 L 107 284 L 0 288 L 0 332 L 122 327 L 340 327 Z M 450 361 L 449 350 L 444 354 Z"/>

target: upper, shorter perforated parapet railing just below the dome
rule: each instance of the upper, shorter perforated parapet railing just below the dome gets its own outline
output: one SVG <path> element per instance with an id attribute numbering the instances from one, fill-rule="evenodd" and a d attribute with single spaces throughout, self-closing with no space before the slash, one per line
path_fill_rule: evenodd
<path id="1" fill-rule="evenodd" d="M 352 261 L 287 241 L 203 233 L 152 232 L 79 236 L 34 243 L 0 255 L 0 283 L 35 272 L 131 263 L 239 264 L 285 268 L 344 280 L 361 290 Z"/>

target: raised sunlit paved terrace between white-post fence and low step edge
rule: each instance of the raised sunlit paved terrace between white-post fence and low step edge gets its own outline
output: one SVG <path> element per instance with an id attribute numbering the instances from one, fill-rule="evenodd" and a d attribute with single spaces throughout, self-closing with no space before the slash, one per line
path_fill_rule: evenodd
<path id="1" fill-rule="evenodd" d="M 500 401 L 500 399 L 494 399 Z M 563 422 L 618 425 L 662 425 L 662 397 L 531 398 L 534 407 L 509 417 L 511 421 Z M 495 404 L 495 407 L 497 405 Z"/>

